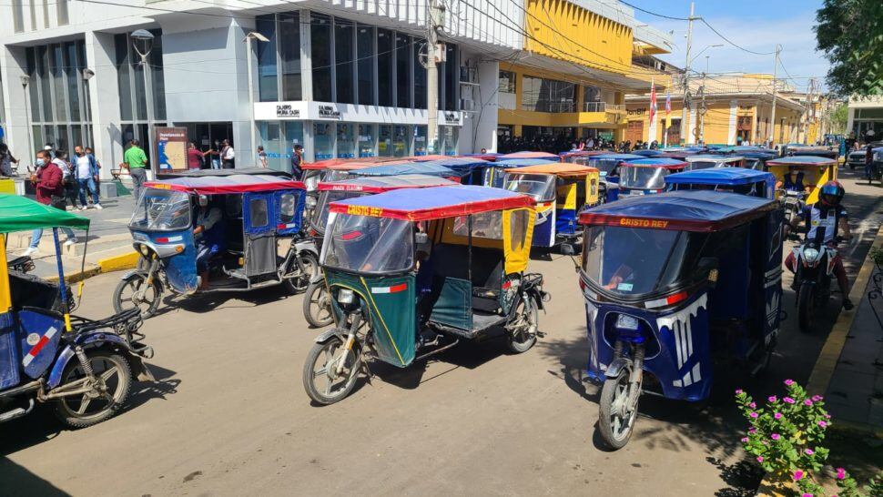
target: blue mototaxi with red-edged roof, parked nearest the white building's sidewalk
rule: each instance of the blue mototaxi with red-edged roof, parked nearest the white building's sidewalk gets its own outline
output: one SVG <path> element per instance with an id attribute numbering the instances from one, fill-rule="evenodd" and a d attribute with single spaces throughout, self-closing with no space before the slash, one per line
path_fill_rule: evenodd
<path id="1" fill-rule="evenodd" d="M 301 235 L 303 183 L 238 173 L 205 170 L 145 183 L 128 225 L 141 259 L 117 285 L 117 312 L 137 308 L 147 319 L 166 291 L 307 288 L 319 261 L 311 241 Z"/>

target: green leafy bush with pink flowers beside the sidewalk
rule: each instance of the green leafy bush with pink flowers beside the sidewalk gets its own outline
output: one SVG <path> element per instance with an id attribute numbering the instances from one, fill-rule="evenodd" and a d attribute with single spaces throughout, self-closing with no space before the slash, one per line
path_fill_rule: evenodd
<path id="1" fill-rule="evenodd" d="M 785 388 L 784 397 L 771 395 L 765 406 L 758 406 L 745 391 L 736 391 L 736 404 L 750 425 L 742 445 L 769 475 L 767 481 L 776 492 L 825 496 L 816 473 L 827 460 L 828 451 L 822 441 L 832 424 L 831 416 L 821 396 L 808 396 L 794 380 L 785 380 Z M 880 478 L 871 480 L 864 492 L 843 468 L 837 468 L 835 481 L 840 497 L 883 496 Z"/>

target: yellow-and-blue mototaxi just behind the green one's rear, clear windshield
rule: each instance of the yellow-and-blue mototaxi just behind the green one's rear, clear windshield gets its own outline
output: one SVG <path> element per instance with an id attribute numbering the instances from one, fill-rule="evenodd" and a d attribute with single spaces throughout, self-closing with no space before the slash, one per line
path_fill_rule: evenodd
<path id="1" fill-rule="evenodd" d="M 506 169 L 503 188 L 536 200 L 533 247 L 560 247 L 564 254 L 580 248 L 580 211 L 598 204 L 598 169 L 549 163 Z"/>

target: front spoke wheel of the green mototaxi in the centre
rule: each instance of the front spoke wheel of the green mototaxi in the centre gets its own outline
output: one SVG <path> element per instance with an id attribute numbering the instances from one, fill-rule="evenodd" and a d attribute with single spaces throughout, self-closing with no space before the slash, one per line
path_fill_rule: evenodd
<path id="1" fill-rule="evenodd" d="M 358 342 L 352 350 L 344 349 L 343 345 L 343 340 L 335 336 L 313 345 L 307 355 L 303 365 L 303 387 L 313 401 L 323 405 L 342 401 L 356 386 L 361 369 L 361 349 Z"/>

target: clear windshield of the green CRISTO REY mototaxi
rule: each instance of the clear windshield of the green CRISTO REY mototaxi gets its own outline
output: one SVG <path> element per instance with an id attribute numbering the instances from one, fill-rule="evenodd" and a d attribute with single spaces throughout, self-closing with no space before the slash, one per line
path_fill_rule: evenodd
<path id="1" fill-rule="evenodd" d="M 414 228 L 408 221 L 340 214 L 330 230 L 322 264 L 362 273 L 406 271 L 414 265 Z"/>

